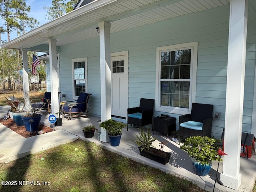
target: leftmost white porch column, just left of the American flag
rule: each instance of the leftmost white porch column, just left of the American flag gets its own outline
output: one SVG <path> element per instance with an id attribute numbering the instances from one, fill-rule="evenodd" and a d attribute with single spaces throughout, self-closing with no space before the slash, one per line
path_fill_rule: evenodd
<path id="1" fill-rule="evenodd" d="M 26 97 L 26 94 L 28 96 L 26 97 L 26 106 L 24 107 L 24 110 L 29 111 L 30 108 L 30 98 L 29 98 L 29 81 L 28 81 L 28 50 L 22 49 L 21 50 L 21 56 L 22 56 L 22 68 L 23 68 L 23 96 Z"/>

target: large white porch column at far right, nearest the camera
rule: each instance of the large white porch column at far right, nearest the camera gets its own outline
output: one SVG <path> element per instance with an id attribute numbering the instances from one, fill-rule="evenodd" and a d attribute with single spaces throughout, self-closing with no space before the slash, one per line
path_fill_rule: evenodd
<path id="1" fill-rule="evenodd" d="M 244 102 L 244 73 L 247 34 L 247 0 L 231 0 L 228 40 L 228 72 L 223 156 L 224 186 L 237 190 L 241 184 L 240 146 Z"/>

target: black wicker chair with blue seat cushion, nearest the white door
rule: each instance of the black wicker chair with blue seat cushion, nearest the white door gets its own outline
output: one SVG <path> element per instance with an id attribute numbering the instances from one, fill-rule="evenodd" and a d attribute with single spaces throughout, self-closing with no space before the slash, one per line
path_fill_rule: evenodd
<path id="1" fill-rule="evenodd" d="M 153 107 L 154 99 L 140 99 L 140 106 L 127 109 L 127 131 L 128 125 L 134 124 L 136 126 L 152 125 L 153 128 Z"/>

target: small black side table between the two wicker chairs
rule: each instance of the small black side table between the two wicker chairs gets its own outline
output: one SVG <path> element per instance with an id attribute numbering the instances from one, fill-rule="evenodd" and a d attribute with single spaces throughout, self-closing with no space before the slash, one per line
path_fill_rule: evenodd
<path id="1" fill-rule="evenodd" d="M 155 131 L 168 134 L 176 130 L 176 118 L 175 117 L 154 117 L 153 135 Z"/>

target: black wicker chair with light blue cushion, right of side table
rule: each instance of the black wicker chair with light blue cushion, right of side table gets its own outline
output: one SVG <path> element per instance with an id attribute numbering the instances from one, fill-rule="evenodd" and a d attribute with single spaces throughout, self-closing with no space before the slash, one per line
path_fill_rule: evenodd
<path id="1" fill-rule="evenodd" d="M 190 136 L 208 136 L 212 134 L 212 110 L 213 105 L 192 103 L 191 114 L 181 115 L 180 138 L 186 139 Z"/>

